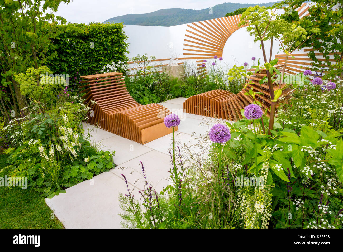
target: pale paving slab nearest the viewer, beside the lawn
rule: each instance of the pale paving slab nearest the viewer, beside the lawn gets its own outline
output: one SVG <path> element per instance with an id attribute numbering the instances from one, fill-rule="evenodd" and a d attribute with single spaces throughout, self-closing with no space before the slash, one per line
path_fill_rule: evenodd
<path id="1" fill-rule="evenodd" d="M 118 192 L 125 182 L 108 171 L 68 188 L 52 199 L 45 199 L 65 228 L 120 228 L 122 212 Z"/>

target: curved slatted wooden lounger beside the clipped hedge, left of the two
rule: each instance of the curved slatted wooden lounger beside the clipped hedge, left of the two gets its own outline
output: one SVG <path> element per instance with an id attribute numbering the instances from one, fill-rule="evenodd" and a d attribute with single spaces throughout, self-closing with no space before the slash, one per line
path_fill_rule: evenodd
<path id="1" fill-rule="evenodd" d="M 92 105 L 94 116 L 87 123 L 132 141 L 145 144 L 173 132 L 163 120 L 170 111 L 159 104 L 141 105 L 129 94 L 122 73 L 103 73 L 81 76 L 86 83 L 82 96 Z M 177 128 L 175 129 L 177 130 Z"/>

